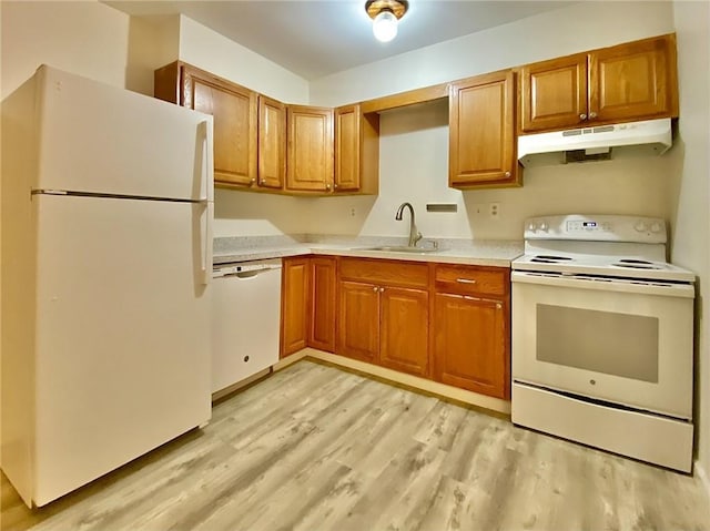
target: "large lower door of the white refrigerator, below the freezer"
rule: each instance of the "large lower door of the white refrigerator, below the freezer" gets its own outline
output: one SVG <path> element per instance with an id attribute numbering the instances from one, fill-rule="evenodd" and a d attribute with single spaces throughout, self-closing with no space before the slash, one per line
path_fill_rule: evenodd
<path id="1" fill-rule="evenodd" d="M 207 205 L 34 196 L 34 502 L 211 416 Z"/>

